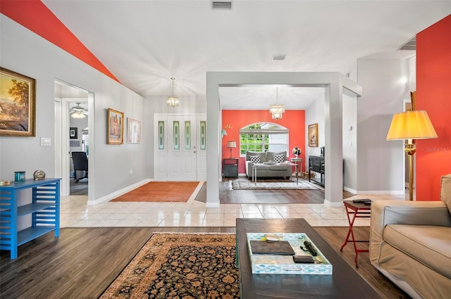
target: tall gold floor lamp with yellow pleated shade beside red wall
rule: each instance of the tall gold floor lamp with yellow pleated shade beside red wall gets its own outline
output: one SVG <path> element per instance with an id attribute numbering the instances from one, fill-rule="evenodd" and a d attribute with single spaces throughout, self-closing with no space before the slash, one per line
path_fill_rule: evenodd
<path id="1" fill-rule="evenodd" d="M 404 152 L 409 157 L 409 200 L 414 200 L 414 139 L 438 138 L 425 110 L 413 110 L 393 115 L 387 140 L 404 140 Z"/>

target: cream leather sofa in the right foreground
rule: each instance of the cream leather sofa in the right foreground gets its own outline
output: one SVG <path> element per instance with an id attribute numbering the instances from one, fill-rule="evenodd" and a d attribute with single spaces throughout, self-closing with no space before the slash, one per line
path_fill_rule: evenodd
<path id="1" fill-rule="evenodd" d="M 371 264 L 412 298 L 451 298 L 451 174 L 442 201 L 371 203 Z"/>

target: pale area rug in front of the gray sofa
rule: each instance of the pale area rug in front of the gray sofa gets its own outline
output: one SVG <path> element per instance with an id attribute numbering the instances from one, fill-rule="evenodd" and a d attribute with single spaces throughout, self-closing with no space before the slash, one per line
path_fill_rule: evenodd
<path id="1" fill-rule="evenodd" d="M 283 182 L 260 182 L 257 184 L 249 180 L 236 179 L 231 182 L 231 189 L 233 190 L 321 190 L 314 184 L 299 179 L 299 184 L 296 180 L 285 179 Z"/>

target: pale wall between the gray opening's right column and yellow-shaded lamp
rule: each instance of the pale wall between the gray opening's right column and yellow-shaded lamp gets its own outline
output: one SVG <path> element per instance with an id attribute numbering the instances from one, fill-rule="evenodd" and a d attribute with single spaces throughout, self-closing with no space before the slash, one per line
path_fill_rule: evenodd
<path id="1" fill-rule="evenodd" d="M 403 193 L 402 141 L 386 136 L 393 114 L 409 98 L 409 60 L 359 59 L 357 82 L 363 88 L 357 101 L 358 192 Z"/>

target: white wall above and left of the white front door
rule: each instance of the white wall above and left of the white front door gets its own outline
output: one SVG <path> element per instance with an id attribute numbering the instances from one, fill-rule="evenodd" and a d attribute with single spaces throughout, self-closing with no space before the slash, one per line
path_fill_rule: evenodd
<path id="1" fill-rule="evenodd" d="M 168 78 L 168 95 L 170 82 Z M 175 93 L 175 95 L 177 95 Z M 144 146 L 146 148 L 145 165 L 147 170 L 147 177 L 154 179 L 154 113 L 206 113 L 206 96 L 179 96 L 179 106 L 169 107 L 166 105 L 168 96 L 146 96 L 144 98 L 143 113 L 146 119 L 146 125 L 143 127 L 146 139 Z M 208 125 L 208 124 L 207 124 Z"/>

